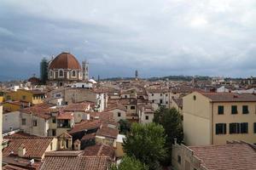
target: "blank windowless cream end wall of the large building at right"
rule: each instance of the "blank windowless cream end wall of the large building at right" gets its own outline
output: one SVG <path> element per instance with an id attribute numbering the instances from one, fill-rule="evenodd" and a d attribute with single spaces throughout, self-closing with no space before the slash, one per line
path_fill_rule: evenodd
<path id="1" fill-rule="evenodd" d="M 211 110 L 209 100 L 199 93 L 195 92 L 183 97 L 185 144 L 211 144 Z"/>

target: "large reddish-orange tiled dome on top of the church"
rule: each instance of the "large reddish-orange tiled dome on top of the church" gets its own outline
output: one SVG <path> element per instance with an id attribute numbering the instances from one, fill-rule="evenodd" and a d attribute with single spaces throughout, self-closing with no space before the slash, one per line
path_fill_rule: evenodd
<path id="1" fill-rule="evenodd" d="M 73 54 L 63 52 L 53 59 L 49 64 L 49 70 L 54 69 L 71 69 L 71 70 L 81 70 L 78 59 L 76 59 Z"/>

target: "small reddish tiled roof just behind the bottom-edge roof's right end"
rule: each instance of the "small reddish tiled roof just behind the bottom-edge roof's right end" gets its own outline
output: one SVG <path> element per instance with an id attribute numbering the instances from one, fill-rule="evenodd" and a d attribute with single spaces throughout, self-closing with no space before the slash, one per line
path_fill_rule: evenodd
<path id="1" fill-rule="evenodd" d="M 114 159 L 114 148 L 108 144 L 96 144 L 84 149 L 84 156 L 108 156 Z"/>

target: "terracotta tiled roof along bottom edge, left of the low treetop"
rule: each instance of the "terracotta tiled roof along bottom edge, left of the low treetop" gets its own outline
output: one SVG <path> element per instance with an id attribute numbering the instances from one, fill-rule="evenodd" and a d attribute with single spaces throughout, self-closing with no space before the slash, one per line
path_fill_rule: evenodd
<path id="1" fill-rule="evenodd" d="M 41 170 L 107 170 L 108 156 L 45 156 Z"/>

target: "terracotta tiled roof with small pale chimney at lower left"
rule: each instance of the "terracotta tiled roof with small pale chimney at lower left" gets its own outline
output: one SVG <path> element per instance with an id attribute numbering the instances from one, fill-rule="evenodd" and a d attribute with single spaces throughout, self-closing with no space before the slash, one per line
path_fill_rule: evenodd
<path id="1" fill-rule="evenodd" d="M 26 154 L 24 157 L 40 158 L 44 155 L 45 150 L 52 142 L 53 138 L 9 138 L 9 144 L 3 149 L 3 156 L 9 156 L 13 151 L 14 155 L 18 154 L 18 148 L 21 144 L 24 144 L 26 148 Z"/>

